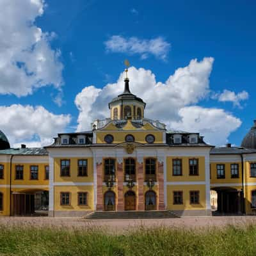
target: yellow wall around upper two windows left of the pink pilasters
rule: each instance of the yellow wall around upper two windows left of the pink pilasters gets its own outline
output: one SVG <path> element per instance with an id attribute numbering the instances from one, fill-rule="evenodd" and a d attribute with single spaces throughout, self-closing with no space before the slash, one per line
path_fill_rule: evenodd
<path id="1" fill-rule="evenodd" d="M 61 177 L 60 170 L 61 170 L 61 159 L 70 159 L 70 177 Z M 87 159 L 87 173 L 88 176 L 79 177 L 77 176 L 78 173 L 78 160 L 79 159 Z M 93 182 L 93 158 L 92 157 L 58 157 L 54 158 L 54 182 Z"/>

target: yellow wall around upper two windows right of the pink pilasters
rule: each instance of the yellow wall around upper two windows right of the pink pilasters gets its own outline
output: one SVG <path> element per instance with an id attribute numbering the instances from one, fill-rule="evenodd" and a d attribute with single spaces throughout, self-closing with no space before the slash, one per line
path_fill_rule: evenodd
<path id="1" fill-rule="evenodd" d="M 173 159 L 182 159 L 182 176 L 173 176 Z M 199 163 L 199 175 L 189 175 L 189 159 L 198 159 Z M 193 156 L 193 157 L 167 157 L 166 159 L 167 169 L 167 181 L 179 182 L 179 181 L 204 181 L 205 180 L 205 157 Z"/>

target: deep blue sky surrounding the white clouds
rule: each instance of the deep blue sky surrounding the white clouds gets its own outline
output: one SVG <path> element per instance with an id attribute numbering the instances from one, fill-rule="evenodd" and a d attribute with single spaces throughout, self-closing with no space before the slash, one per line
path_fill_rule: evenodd
<path id="1" fill-rule="evenodd" d="M 8 1 L 3 2 L 8 5 Z M 13 2 L 15 1 L 13 0 Z M 31 4 L 29 0 L 26 2 Z M 230 135 L 225 136 L 230 143 L 236 145 L 241 143 L 244 134 L 252 126 L 253 119 L 256 118 L 254 111 L 256 107 L 254 100 L 256 96 L 255 1 L 73 0 L 70 2 L 64 0 L 61 1 L 61 4 L 57 0 L 46 0 L 44 4 L 40 0 L 36 0 L 36 2 L 39 7 L 43 6 L 44 11 L 40 15 L 34 10 L 31 11 L 35 17 L 33 26 L 42 29 L 43 33 L 54 32 L 52 38 L 47 39 L 47 45 L 52 51 L 58 51 L 55 61 L 58 61 L 63 68 L 60 66 L 57 68 L 62 77 L 62 84 L 56 82 L 58 79 L 60 81 L 60 77 L 56 80 L 56 77 L 52 78 L 54 74 L 51 74 L 52 80 L 45 79 L 47 81 L 44 86 L 34 88 L 31 85 L 33 88 L 31 92 L 24 93 L 26 95 L 20 97 L 17 95 L 19 93 L 13 93 L 11 89 L 6 90 L 6 86 L 3 85 L 4 81 L 0 77 L 0 105 L 6 108 L 3 112 L 4 115 L 8 115 L 8 111 L 10 111 L 7 109 L 8 106 L 20 104 L 22 106 L 29 105 L 31 108 L 42 106 L 47 112 L 56 115 L 56 118 L 59 115 L 70 115 L 71 120 L 63 121 L 62 126 L 55 126 L 48 133 L 41 131 L 40 128 L 36 130 L 37 133 L 26 133 L 29 128 L 24 126 L 24 134 L 19 134 L 19 138 L 15 137 L 17 132 L 14 131 L 17 124 L 13 127 L 8 120 L 6 123 L 3 122 L 1 127 L 0 123 L 0 129 L 3 129 L 12 138 L 12 143 L 40 141 L 40 138 L 46 140 L 47 136 L 61 132 L 54 130 L 58 128 L 64 131 L 76 131 L 77 117 L 79 116 L 79 109 L 74 103 L 76 95 L 86 86 L 93 85 L 96 88 L 104 88 L 107 83 L 116 83 L 124 70 L 125 59 L 129 59 L 131 66 L 137 69 L 150 70 L 156 76 L 157 82 L 165 83 L 177 68 L 188 66 L 191 60 L 197 59 L 199 62 L 205 57 L 214 58 L 209 75 L 209 88 L 207 88 L 211 92 L 200 97 L 200 100 L 198 99 L 196 102 L 189 102 L 185 107 L 196 105 L 207 109 L 223 109 L 227 115 L 239 118 L 241 125 L 238 125 L 239 127 Z M 12 5 L 9 7 L 15 8 Z M 29 12 L 26 13 L 26 9 L 22 9 L 20 12 L 24 12 L 24 16 L 32 15 Z M 2 24 L 2 26 L 5 25 Z M 26 32 L 22 35 L 26 36 Z M 159 55 L 148 50 L 145 50 L 146 54 L 143 55 L 138 50 L 137 52 L 132 51 L 129 47 L 122 51 L 109 50 L 106 47 L 106 42 L 113 40 L 113 36 L 122 38 L 127 44 L 131 38 L 136 38 L 141 47 L 143 44 L 144 46 L 149 44 L 149 40 L 161 38 L 161 43 L 169 46 L 166 46 L 163 50 L 164 53 Z M 1 51 L 4 51 L 4 48 L 0 46 L 0 53 Z M 22 52 L 22 49 L 20 51 Z M 24 65 L 29 66 L 26 60 L 23 61 Z M 32 60 L 31 63 L 33 63 Z M 54 65 L 52 67 L 56 68 Z M 54 68 L 52 68 L 52 72 L 55 72 Z M 6 72 L 6 69 L 2 71 Z M 47 85 L 51 81 L 55 86 Z M 132 82 L 131 79 L 131 84 Z M 3 90 L 1 90 L 1 83 L 5 88 Z M 19 85 L 16 83 L 15 86 Z M 136 89 L 134 90 L 136 91 Z M 241 96 L 244 98 L 238 101 L 238 98 L 221 101 L 221 93 L 224 90 L 235 93 L 235 98 L 238 93 L 243 91 L 248 94 Z M 136 94 L 137 92 L 138 90 Z M 60 93 L 59 98 L 61 97 L 61 106 L 54 102 L 54 97 L 58 93 Z M 99 99 L 101 98 L 99 97 Z M 107 108 L 108 106 L 106 106 Z M 172 108 L 172 104 L 168 105 L 166 102 L 166 109 L 168 108 Z M 101 114 L 99 115 L 101 117 Z M 164 113 L 164 115 L 163 120 L 172 119 L 172 115 L 169 117 L 168 113 Z M 161 116 L 158 118 L 161 120 Z M 178 119 L 175 120 L 175 128 L 178 126 Z M 83 122 L 86 122 L 86 118 L 83 118 Z M 90 122 L 90 118 L 88 118 L 88 122 Z M 184 122 L 180 129 L 189 128 L 189 125 Z M 227 122 L 224 120 L 224 123 L 227 125 L 228 119 Z M 170 124 L 172 124 L 172 120 L 170 120 Z M 211 123 L 207 125 L 211 126 Z M 233 123 L 230 122 L 230 125 Z M 237 123 L 235 122 L 234 125 Z M 220 132 L 221 129 L 216 130 L 216 136 Z M 209 141 L 212 142 L 212 139 Z M 223 144 L 223 140 L 220 141 L 220 144 Z"/>

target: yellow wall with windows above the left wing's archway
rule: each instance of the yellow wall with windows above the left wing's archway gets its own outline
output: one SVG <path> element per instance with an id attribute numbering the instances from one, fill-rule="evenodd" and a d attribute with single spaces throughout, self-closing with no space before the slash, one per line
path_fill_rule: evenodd
<path id="1" fill-rule="evenodd" d="M 23 165 L 23 180 L 15 179 L 15 166 Z M 38 180 L 30 179 L 30 166 L 38 166 Z M 48 185 L 49 180 L 45 180 L 45 166 L 48 163 L 13 163 L 12 164 L 12 184 L 13 185 Z"/>

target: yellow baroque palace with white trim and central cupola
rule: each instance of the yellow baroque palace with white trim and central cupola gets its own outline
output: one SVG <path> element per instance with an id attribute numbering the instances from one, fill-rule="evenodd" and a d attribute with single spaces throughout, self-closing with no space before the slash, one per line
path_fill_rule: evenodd
<path id="1" fill-rule="evenodd" d="M 10 148 L 0 131 L 0 216 L 255 214 L 256 123 L 241 147 L 217 148 L 145 118 L 145 107 L 125 78 L 110 118 L 91 131 L 58 134 L 45 148 Z"/>

